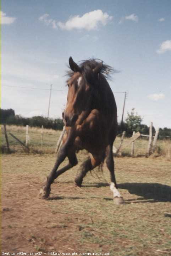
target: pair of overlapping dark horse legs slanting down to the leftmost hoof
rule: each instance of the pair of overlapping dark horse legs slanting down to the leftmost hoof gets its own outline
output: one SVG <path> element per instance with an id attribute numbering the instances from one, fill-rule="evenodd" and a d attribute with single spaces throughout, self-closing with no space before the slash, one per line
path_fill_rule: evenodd
<path id="1" fill-rule="evenodd" d="M 56 171 L 60 164 L 65 160 L 66 156 L 68 157 L 69 163 L 65 167 L 61 168 L 59 171 Z M 77 163 L 78 161 L 75 150 L 71 148 L 70 151 L 66 152 L 65 146 L 63 146 L 59 151 L 54 168 L 48 176 L 45 185 L 40 189 L 39 197 L 43 199 L 48 198 L 50 194 L 50 186 L 54 182 L 54 179 L 56 179 L 60 174 L 66 172 L 68 169 L 71 169 Z"/>

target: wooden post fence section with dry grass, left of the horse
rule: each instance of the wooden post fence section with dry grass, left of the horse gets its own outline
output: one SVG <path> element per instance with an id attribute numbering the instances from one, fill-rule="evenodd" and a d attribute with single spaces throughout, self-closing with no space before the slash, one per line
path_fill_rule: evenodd
<path id="1" fill-rule="evenodd" d="M 1 129 L 1 148 L 2 151 L 6 144 L 6 137 L 8 139 L 11 151 L 31 151 L 31 152 L 55 152 L 57 141 L 61 131 L 52 129 L 44 129 L 37 127 L 23 127 L 15 125 L 5 125 Z M 5 132 L 6 130 L 6 132 Z M 8 147 L 7 147 L 8 148 Z M 9 151 L 7 149 L 6 151 Z"/>

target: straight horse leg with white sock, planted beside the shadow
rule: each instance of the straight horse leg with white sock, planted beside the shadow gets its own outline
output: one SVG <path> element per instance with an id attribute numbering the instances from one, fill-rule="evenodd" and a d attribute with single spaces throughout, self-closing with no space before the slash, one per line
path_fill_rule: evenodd
<path id="1" fill-rule="evenodd" d="M 117 189 L 115 173 L 114 173 L 114 158 L 112 152 L 112 146 L 108 145 L 106 148 L 106 165 L 110 171 L 110 190 L 114 193 L 114 203 L 115 204 L 123 204 L 124 200 Z"/>

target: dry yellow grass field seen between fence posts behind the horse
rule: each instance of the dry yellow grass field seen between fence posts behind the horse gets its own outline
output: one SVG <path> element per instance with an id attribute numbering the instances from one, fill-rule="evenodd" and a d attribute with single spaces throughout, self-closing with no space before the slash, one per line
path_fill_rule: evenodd
<path id="1" fill-rule="evenodd" d="M 6 127 L 9 138 L 10 148 L 14 152 L 23 152 L 23 147 L 15 139 L 13 139 L 9 132 L 12 132 L 18 139 L 25 143 L 26 141 L 26 127 L 10 125 Z M 37 127 L 29 127 L 29 147 L 31 153 L 54 153 L 57 141 L 59 139 L 61 131 L 55 131 L 52 129 L 43 130 L 43 147 L 41 147 L 41 129 Z M 4 130 L 1 131 L 1 145 L 6 145 Z M 120 137 L 116 137 L 114 146 L 117 148 L 120 144 Z M 127 142 L 128 138 L 124 139 Z M 147 153 L 148 139 L 138 138 L 134 142 L 134 156 L 145 156 Z M 131 145 L 126 147 L 122 151 L 123 156 L 131 155 Z M 156 145 L 156 152 L 154 156 L 164 156 L 168 160 L 171 160 L 171 140 L 158 140 Z"/>

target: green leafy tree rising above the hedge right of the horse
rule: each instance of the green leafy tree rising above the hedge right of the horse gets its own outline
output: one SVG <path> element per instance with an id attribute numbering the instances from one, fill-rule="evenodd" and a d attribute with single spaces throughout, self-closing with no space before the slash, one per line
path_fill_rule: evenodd
<path id="1" fill-rule="evenodd" d="M 137 113 L 134 113 L 134 108 L 132 108 L 131 113 L 127 112 L 126 124 L 128 126 L 128 133 L 133 131 L 139 131 L 141 128 L 142 117 Z"/>

